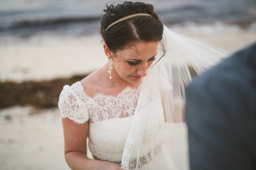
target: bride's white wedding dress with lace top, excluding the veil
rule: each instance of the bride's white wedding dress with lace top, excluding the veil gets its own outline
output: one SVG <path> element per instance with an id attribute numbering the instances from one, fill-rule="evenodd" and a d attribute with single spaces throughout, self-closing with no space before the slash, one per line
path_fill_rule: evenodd
<path id="1" fill-rule="evenodd" d="M 69 118 L 75 123 L 82 124 L 89 121 L 89 150 L 93 157 L 114 163 L 121 163 L 124 147 L 129 130 L 132 125 L 134 111 L 139 98 L 139 89 L 125 88 L 118 96 L 106 96 L 96 94 L 93 98 L 85 94 L 82 84 L 77 81 L 73 85 L 65 85 L 59 96 L 59 109 L 62 118 Z M 151 111 L 158 112 L 161 108 L 152 103 Z M 163 114 L 162 114 L 163 115 Z M 163 116 L 159 117 L 164 119 Z M 180 127 L 184 125 L 179 125 Z M 182 127 L 184 128 L 184 127 Z M 178 128 L 176 128 L 178 129 Z M 159 132 L 159 134 L 158 134 Z M 184 134 L 184 133 L 183 133 Z M 156 130 L 156 136 L 163 136 L 163 132 Z M 157 137 L 158 138 L 158 137 Z M 145 162 L 139 166 L 140 170 L 174 170 L 186 169 L 186 159 L 181 165 L 174 165 L 175 157 L 170 156 L 170 148 L 163 146 L 163 140 L 159 137 L 157 146 L 157 156 L 154 161 Z M 187 154 L 186 144 L 173 143 L 170 145 L 180 145 L 175 148 L 184 148 L 183 153 Z M 146 150 L 143 155 L 148 155 L 150 147 L 147 148 L 147 133 L 143 135 L 142 145 Z M 148 145 L 150 146 L 150 145 Z M 148 150 L 148 151 L 147 151 Z M 182 149 L 183 150 L 183 149 Z M 171 152 L 174 150 L 171 149 Z M 176 149 L 177 151 L 177 149 Z M 178 150 L 180 152 L 180 150 Z M 173 152 L 175 153 L 175 151 Z M 180 156 L 178 156 L 180 159 Z M 185 156 L 184 156 L 185 157 Z M 183 159 L 183 158 L 182 158 Z M 179 168 L 178 166 L 182 167 Z M 130 170 L 133 166 L 130 165 Z"/>

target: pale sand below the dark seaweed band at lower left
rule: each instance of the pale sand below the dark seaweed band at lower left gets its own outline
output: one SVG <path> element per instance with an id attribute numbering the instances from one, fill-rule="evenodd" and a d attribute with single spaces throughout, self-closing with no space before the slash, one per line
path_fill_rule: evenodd
<path id="1" fill-rule="evenodd" d="M 63 152 L 57 108 L 40 112 L 32 107 L 0 110 L 1 170 L 68 170 Z"/>

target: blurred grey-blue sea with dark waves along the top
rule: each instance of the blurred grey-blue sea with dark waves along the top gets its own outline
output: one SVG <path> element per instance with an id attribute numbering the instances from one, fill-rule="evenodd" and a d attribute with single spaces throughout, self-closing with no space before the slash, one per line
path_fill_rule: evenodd
<path id="1" fill-rule="evenodd" d="M 98 34 L 106 0 L 0 0 L 0 38 L 37 34 Z M 255 0 L 141 0 L 153 4 L 166 25 L 221 22 L 241 26 L 256 21 Z"/>

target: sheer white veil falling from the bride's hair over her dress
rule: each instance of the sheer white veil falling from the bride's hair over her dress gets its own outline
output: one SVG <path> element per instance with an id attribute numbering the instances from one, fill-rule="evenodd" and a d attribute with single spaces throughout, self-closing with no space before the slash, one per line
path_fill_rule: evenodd
<path id="1" fill-rule="evenodd" d="M 125 170 L 188 169 L 184 123 L 186 85 L 193 72 L 199 75 L 230 56 L 229 52 L 174 33 L 166 26 L 163 42 L 165 56 L 153 63 L 141 83 L 122 154 L 121 165 Z M 157 60 L 161 55 L 159 51 Z"/>

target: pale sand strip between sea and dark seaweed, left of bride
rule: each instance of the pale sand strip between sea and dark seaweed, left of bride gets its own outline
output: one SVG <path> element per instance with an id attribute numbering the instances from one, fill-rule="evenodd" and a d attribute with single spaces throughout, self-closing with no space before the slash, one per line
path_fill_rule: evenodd
<path id="1" fill-rule="evenodd" d="M 49 80 L 92 72 L 107 61 L 101 44 L 100 36 L 38 36 L 29 42 L 1 45 L 0 80 Z"/>

